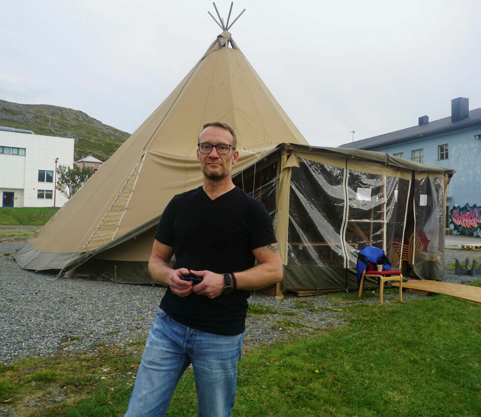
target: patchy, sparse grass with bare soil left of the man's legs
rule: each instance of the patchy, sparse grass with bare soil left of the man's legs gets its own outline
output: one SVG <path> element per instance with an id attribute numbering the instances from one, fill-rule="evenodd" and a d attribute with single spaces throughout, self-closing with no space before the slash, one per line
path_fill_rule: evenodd
<path id="1" fill-rule="evenodd" d="M 122 416 L 144 343 L 0 364 L 0 409 L 19 417 Z"/>

